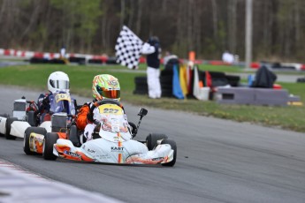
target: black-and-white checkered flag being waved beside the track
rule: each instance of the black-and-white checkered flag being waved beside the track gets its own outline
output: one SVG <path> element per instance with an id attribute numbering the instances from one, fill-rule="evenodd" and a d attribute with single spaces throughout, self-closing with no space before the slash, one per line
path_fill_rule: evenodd
<path id="1" fill-rule="evenodd" d="M 143 41 L 133 34 L 127 26 L 123 26 L 116 44 L 117 63 L 130 69 L 138 67 Z"/>

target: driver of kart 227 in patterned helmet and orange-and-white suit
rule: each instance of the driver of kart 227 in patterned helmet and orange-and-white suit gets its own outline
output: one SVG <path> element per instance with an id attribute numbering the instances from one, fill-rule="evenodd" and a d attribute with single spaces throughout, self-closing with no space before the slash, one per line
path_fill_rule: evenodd
<path id="1" fill-rule="evenodd" d="M 109 74 L 96 75 L 92 82 L 93 102 L 85 103 L 79 110 L 76 117 L 76 126 L 79 131 L 84 132 L 83 136 L 86 140 L 92 139 L 92 133 L 95 129 L 93 113 L 90 108 L 94 102 L 102 101 L 103 99 L 111 99 L 114 101 L 120 100 L 120 86 L 118 79 Z M 123 106 L 121 106 L 123 109 Z M 127 120 L 126 114 L 124 115 Z M 81 143 L 86 140 L 80 140 Z"/>

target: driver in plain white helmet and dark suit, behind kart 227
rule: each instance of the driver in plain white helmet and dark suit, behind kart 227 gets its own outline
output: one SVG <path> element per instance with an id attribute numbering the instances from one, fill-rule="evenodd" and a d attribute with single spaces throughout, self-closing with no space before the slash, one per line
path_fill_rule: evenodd
<path id="1" fill-rule="evenodd" d="M 63 71 L 52 72 L 48 79 L 49 93 L 40 94 L 38 97 L 38 113 L 41 115 L 39 124 L 43 121 L 50 121 L 50 95 L 56 92 L 69 93 L 69 77 Z"/>

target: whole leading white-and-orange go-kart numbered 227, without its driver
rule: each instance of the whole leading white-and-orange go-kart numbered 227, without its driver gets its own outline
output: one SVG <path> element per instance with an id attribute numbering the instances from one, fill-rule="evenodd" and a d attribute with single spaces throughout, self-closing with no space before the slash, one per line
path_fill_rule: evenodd
<path id="1" fill-rule="evenodd" d="M 147 109 L 140 109 L 137 126 L 129 123 L 132 124 L 132 130 L 119 102 L 95 102 L 90 110 L 94 113 L 96 124 L 93 139 L 76 147 L 72 142 L 78 136 L 75 130 L 70 131 L 68 139 L 60 138 L 58 133 L 47 133 L 42 146 L 42 155 L 46 160 L 61 157 L 73 161 L 116 164 L 175 164 L 177 146 L 166 135 L 150 133 L 145 141 L 133 139 L 142 117 L 148 113 Z"/>

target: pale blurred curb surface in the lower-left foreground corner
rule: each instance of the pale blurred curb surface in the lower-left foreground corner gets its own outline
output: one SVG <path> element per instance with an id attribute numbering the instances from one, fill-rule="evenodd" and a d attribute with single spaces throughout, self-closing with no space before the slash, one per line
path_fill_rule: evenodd
<path id="1" fill-rule="evenodd" d="M 109 202 L 117 199 L 44 178 L 0 159 L 0 202 Z"/>

